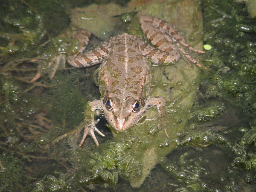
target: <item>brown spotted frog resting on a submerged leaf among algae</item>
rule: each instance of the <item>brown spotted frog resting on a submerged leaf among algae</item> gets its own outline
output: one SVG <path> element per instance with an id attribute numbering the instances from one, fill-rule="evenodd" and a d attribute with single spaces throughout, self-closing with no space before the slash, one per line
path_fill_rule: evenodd
<path id="1" fill-rule="evenodd" d="M 97 82 L 100 99 L 88 102 L 93 113 L 102 109 L 109 125 L 117 132 L 125 131 L 135 125 L 146 109 L 157 107 L 161 116 L 166 105 L 162 96 L 150 97 L 151 63 L 171 65 L 180 59 L 187 58 L 198 67 L 204 67 L 183 47 L 197 53 L 205 53 L 186 44 L 174 26 L 160 18 L 140 16 L 140 26 L 148 41 L 137 35 L 123 33 L 102 42 L 94 49 L 84 52 L 90 33 L 84 29 L 74 32 L 80 42 L 79 51 L 68 56 L 68 63 L 74 67 L 89 67 L 100 64 L 97 69 Z M 79 146 L 90 135 L 96 145 L 95 132 L 105 136 L 96 128 L 92 116 L 90 123 L 84 125 L 84 134 Z M 167 131 L 166 136 L 168 137 Z"/>

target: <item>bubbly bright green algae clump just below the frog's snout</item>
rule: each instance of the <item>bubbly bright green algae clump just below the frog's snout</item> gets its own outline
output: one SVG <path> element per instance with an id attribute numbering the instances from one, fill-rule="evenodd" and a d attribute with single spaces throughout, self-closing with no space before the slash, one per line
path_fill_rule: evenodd
<path id="1" fill-rule="evenodd" d="M 118 183 L 119 177 L 139 177 L 142 165 L 128 151 L 133 142 L 140 142 L 139 138 L 131 137 L 121 143 L 111 142 L 102 153 L 90 154 L 90 180 L 100 178 L 111 185 Z"/>

